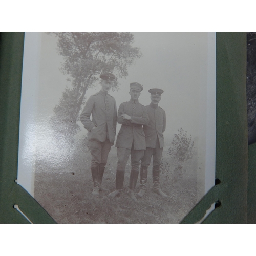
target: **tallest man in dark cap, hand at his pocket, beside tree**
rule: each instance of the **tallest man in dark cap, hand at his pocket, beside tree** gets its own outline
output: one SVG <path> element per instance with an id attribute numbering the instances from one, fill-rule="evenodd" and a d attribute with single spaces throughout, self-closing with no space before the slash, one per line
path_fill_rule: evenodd
<path id="1" fill-rule="evenodd" d="M 100 78 L 101 90 L 88 99 L 80 116 L 84 128 L 88 130 L 94 196 L 99 196 L 100 190 L 109 190 L 103 188 L 101 183 L 111 146 L 114 145 L 117 120 L 116 101 L 108 93 L 116 77 L 105 73 Z"/>

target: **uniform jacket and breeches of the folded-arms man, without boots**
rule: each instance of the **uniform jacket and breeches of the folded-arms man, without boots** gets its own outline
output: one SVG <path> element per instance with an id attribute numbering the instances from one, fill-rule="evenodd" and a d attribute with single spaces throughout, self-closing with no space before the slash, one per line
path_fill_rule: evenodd
<path id="1" fill-rule="evenodd" d="M 121 117 L 122 114 L 131 116 L 131 120 Z M 139 172 L 140 160 L 144 156 L 146 148 L 143 124 L 148 123 L 146 107 L 141 105 L 138 100 L 130 100 L 122 103 L 118 109 L 117 122 L 121 123 L 121 129 L 117 136 L 117 170 L 125 170 L 125 166 L 131 154 L 131 166 Z"/>

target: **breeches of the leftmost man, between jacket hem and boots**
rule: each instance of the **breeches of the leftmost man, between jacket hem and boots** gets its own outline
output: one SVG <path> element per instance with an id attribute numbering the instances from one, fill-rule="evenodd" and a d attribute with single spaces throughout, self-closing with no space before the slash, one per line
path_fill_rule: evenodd
<path id="1" fill-rule="evenodd" d="M 109 152 L 113 143 L 107 139 L 104 142 L 96 140 L 89 141 L 89 148 L 92 155 L 91 168 L 97 168 L 99 164 L 103 167 L 108 161 Z"/>

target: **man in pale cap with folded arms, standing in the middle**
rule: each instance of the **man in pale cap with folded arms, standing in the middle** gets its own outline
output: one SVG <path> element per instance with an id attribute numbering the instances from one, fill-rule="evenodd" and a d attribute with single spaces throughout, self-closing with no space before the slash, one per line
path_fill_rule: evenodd
<path id="1" fill-rule="evenodd" d="M 133 200 L 135 197 L 140 161 L 146 148 L 145 134 L 142 125 L 148 123 L 146 107 L 138 101 L 140 92 L 143 90 L 141 84 L 133 82 L 130 84 L 130 101 L 119 106 L 117 122 L 121 123 L 121 129 L 117 136 L 117 170 L 116 170 L 116 190 L 109 194 L 110 197 L 120 195 L 123 188 L 124 171 L 128 158 L 131 154 L 131 174 L 129 182 L 129 195 Z"/>

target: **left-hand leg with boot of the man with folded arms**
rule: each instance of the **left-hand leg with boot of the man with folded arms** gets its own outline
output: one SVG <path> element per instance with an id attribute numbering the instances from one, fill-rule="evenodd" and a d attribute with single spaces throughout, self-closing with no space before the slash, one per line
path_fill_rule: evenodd
<path id="1" fill-rule="evenodd" d="M 117 147 L 117 169 L 116 169 L 116 190 L 109 194 L 110 197 L 117 197 L 123 189 L 125 166 L 129 159 L 131 150 L 123 147 Z"/>

